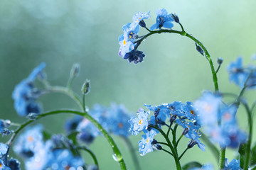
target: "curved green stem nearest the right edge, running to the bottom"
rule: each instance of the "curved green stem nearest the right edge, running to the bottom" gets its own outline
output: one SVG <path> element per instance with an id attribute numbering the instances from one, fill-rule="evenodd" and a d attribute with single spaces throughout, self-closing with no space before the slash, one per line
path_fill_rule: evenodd
<path id="1" fill-rule="evenodd" d="M 253 121 L 252 121 L 252 112 L 250 111 L 249 106 L 247 103 L 242 102 L 242 104 L 245 106 L 247 117 L 248 117 L 248 123 L 249 123 L 249 132 L 248 132 L 248 142 L 246 145 L 246 154 L 245 154 L 245 165 L 243 169 L 248 169 L 249 163 L 250 163 L 250 146 L 252 144 L 252 126 L 253 126 Z"/>

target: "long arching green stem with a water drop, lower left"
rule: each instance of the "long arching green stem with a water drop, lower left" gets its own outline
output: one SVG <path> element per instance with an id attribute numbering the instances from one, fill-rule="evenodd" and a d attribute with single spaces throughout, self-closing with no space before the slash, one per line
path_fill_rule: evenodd
<path id="1" fill-rule="evenodd" d="M 121 169 L 127 169 L 125 164 L 124 164 L 124 159 L 122 158 L 122 154 L 119 151 L 117 145 L 115 144 L 114 140 L 112 139 L 112 137 L 110 137 L 110 135 L 107 133 L 107 131 L 102 128 L 102 125 L 100 125 L 100 123 L 98 123 L 94 118 L 92 118 L 92 116 L 90 116 L 87 112 L 82 113 L 80 111 L 73 111 L 73 110 L 58 110 L 58 111 L 49 111 L 46 113 L 42 113 L 40 115 L 38 115 L 38 117 L 36 118 L 36 120 L 46 117 L 48 115 L 57 115 L 60 113 L 73 113 L 75 115 L 82 115 L 83 117 L 87 118 L 87 120 L 89 120 L 92 124 L 95 125 L 95 127 L 100 130 L 100 132 L 102 133 L 102 135 L 106 138 L 107 142 L 110 144 L 110 146 L 112 147 L 112 150 L 114 152 L 115 157 L 117 157 L 117 161 L 119 162 L 119 165 L 121 167 Z M 12 142 L 14 142 L 14 139 L 16 137 L 16 135 L 18 135 L 18 132 L 20 132 L 23 128 L 26 127 L 26 125 L 32 123 L 34 120 L 28 120 L 26 123 L 23 123 L 15 132 L 14 135 L 11 136 L 11 139 L 9 140 L 9 142 L 7 142 L 7 145 L 9 145 L 9 149 L 11 147 Z"/>

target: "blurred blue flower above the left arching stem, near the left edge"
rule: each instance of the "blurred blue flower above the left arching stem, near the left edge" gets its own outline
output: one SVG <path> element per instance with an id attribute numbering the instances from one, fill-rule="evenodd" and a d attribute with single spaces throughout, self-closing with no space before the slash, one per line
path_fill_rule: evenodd
<path id="1" fill-rule="evenodd" d="M 41 74 L 44 67 L 46 67 L 46 64 L 43 62 L 33 69 L 28 78 L 23 79 L 15 86 L 12 98 L 18 115 L 26 116 L 28 113 L 41 112 L 41 106 L 36 102 L 36 99 L 40 96 L 40 91 L 34 87 L 33 81 Z"/>

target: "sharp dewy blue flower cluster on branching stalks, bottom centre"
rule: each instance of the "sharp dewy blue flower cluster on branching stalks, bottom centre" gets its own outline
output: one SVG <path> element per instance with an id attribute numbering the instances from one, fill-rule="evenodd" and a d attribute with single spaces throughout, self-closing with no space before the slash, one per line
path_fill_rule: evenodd
<path id="1" fill-rule="evenodd" d="M 159 128 L 166 125 L 169 128 L 176 123 L 183 128 L 183 134 L 187 138 L 191 139 L 188 143 L 188 147 L 191 148 L 194 145 L 205 151 L 205 145 L 199 140 L 201 133 L 199 132 L 200 125 L 196 123 L 198 120 L 198 113 L 193 107 L 193 103 L 186 102 L 181 103 L 174 101 L 174 103 L 164 103 L 160 106 L 144 105 L 149 111 L 144 111 L 142 108 L 137 112 L 137 117 L 131 118 L 129 123 L 131 124 L 130 131 L 132 135 L 138 135 L 143 131 L 145 135 L 142 135 L 142 140 L 139 141 L 139 152 L 141 155 L 145 155 L 148 152 L 152 152 L 153 148 L 161 148 L 156 146 L 157 141 L 154 140 L 154 136 L 159 133 Z M 154 115 L 150 115 L 150 111 Z M 166 123 L 169 120 L 169 125 Z"/>

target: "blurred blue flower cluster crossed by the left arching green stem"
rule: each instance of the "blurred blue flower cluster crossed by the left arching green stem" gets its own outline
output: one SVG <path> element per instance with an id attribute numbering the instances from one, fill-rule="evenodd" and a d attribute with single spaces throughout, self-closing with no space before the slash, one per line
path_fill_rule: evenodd
<path id="1" fill-rule="evenodd" d="M 124 106 L 118 106 L 115 103 L 112 103 L 111 107 L 95 104 L 88 113 L 95 118 L 107 132 L 121 137 L 129 137 L 128 120 L 131 116 Z M 90 144 L 95 137 L 101 134 L 95 125 L 81 116 L 75 116 L 74 118 L 67 120 L 65 123 L 65 130 L 68 134 L 78 132 L 78 139 L 87 144 Z"/>

